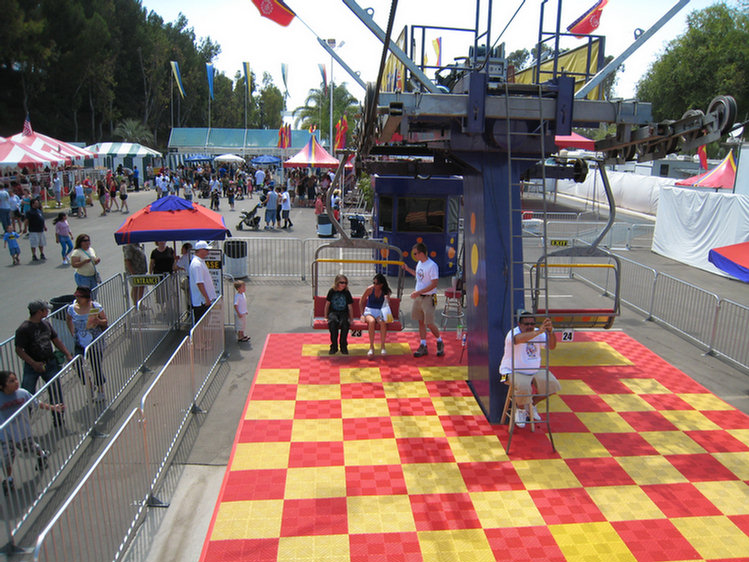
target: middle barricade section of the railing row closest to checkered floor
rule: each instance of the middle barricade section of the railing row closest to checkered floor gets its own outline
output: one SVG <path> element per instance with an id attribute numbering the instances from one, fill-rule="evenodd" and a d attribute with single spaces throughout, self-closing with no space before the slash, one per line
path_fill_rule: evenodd
<path id="1" fill-rule="evenodd" d="M 141 398 L 149 496 L 152 496 L 193 399 L 191 345 L 185 337 Z"/>

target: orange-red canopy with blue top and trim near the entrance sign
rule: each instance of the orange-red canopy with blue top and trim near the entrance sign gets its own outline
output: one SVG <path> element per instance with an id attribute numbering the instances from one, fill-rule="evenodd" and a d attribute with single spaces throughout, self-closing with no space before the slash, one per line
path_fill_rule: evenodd
<path id="1" fill-rule="evenodd" d="M 172 240 L 224 240 L 231 232 L 224 218 L 202 205 L 169 195 L 122 223 L 114 239 L 118 244 Z"/>

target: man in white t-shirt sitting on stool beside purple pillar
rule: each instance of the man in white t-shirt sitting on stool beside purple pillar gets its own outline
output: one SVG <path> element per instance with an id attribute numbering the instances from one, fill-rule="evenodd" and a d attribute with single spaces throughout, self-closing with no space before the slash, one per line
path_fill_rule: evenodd
<path id="1" fill-rule="evenodd" d="M 503 380 L 508 381 L 508 384 L 512 384 L 513 369 L 515 371 L 513 399 L 517 400 L 515 425 L 518 427 L 525 427 L 528 421 L 526 408 L 529 403 L 533 419 L 540 421 L 541 416 L 536 410 L 536 404 L 556 394 L 562 388 L 551 371 L 549 371 L 548 386 L 546 384 L 546 369 L 541 369 L 541 348 L 545 345 L 548 345 L 549 349 L 557 346 L 557 337 L 554 334 L 551 319 L 544 319 L 541 327 L 536 329 L 536 318 L 530 312 L 520 311 L 517 327 L 507 332 L 505 337 L 505 353 L 499 364 L 499 373 Z M 532 382 L 536 383 L 538 394 L 531 400 Z"/>

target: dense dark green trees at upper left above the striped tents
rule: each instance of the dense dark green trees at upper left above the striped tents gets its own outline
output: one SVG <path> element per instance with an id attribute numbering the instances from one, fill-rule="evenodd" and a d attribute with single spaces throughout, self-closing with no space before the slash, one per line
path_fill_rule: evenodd
<path id="1" fill-rule="evenodd" d="M 0 135 L 24 117 L 45 134 L 92 144 L 134 123 L 163 146 L 175 127 L 208 125 L 206 63 L 221 47 L 198 39 L 180 14 L 166 23 L 140 0 L 3 0 L 0 18 Z M 116 25 L 114 24 L 116 22 Z M 177 61 L 185 89 L 172 84 Z M 211 126 L 278 128 L 285 101 L 269 75 L 245 100 L 245 80 L 214 78 Z M 142 137 L 143 131 L 138 135 Z M 143 137 L 142 137 L 143 138 Z M 147 138 L 147 137 L 146 137 Z"/>

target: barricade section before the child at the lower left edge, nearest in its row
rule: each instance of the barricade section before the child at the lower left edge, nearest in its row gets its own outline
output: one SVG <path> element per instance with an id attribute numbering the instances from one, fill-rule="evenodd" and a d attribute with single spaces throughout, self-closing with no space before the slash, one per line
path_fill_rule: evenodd
<path id="1" fill-rule="evenodd" d="M 63 468 L 89 438 L 101 406 L 90 399 L 85 380 L 83 357 L 78 355 L 47 382 L 25 405 L 5 423 L 0 425 L 0 441 L 3 454 L 11 454 L 13 442 L 11 428 L 24 424 L 31 439 L 46 453 L 44 466 L 39 464 L 37 450 L 23 445 L 16 446 L 15 462 L 12 463 L 14 489 L 8 487 L 3 496 L 3 519 L 9 533 L 3 544 L 13 542 L 13 536 L 40 504 L 42 496 L 50 489 Z M 16 372 L 21 381 L 23 371 Z M 35 409 L 33 402 L 47 404 L 63 403 L 63 413 Z M 33 411 L 33 414 L 31 412 Z M 18 420 L 23 420 L 19 422 Z M 41 469 L 41 470 L 40 470 Z M 7 470 L 3 477 L 7 480 Z"/>

